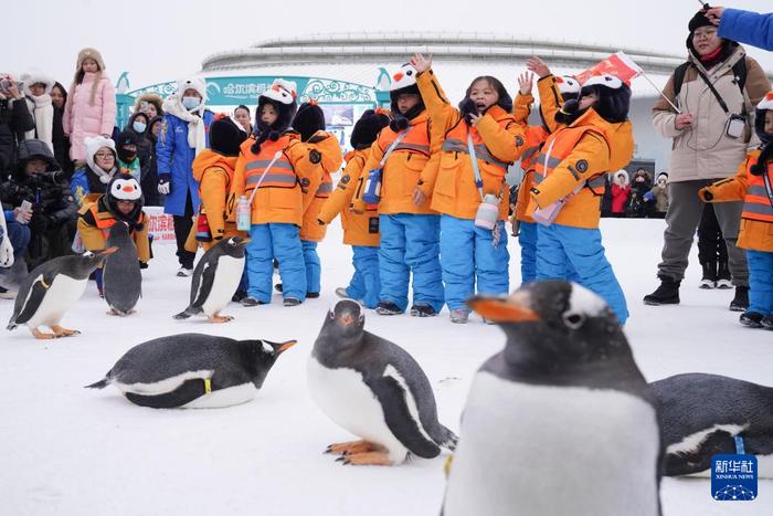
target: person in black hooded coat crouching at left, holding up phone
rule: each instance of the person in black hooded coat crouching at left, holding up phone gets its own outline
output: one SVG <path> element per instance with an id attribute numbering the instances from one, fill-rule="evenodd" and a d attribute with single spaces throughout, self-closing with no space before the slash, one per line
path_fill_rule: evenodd
<path id="1" fill-rule="evenodd" d="M 15 172 L 0 186 L 0 200 L 13 207 L 15 221 L 30 230 L 30 271 L 71 253 L 77 206 L 47 144 L 29 139 L 19 145 Z"/>

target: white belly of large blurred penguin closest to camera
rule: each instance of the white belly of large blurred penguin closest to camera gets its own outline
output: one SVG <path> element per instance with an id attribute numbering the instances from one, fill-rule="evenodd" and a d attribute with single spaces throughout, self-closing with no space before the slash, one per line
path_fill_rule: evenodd
<path id="1" fill-rule="evenodd" d="M 465 407 L 445 516 L 655 516 L 654 409 L 614 390 L 479 372 Z"/>

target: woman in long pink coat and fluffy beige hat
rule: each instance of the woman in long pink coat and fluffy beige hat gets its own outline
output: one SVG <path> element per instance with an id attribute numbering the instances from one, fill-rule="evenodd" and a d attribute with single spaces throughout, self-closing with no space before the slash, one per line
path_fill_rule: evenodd
<path id="1" fill-rule="evenodd" d="M 75 80 L 70 86 L 62 125 L 70 135 L 70 158 L 86 161 L 84 139 L 88 136 L 109 138 L 116 123 L 116 94 L 105 74 L 105 62 L 95 49 L 77 54 Z"/>

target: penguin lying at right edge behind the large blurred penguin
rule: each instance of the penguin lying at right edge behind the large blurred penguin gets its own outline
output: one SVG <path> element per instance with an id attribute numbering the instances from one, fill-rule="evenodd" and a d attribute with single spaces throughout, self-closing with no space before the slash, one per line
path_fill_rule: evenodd
<path id="1" fill-rule="evenodd" d="M 691 372 L 650 383 L 660 402 L 665 474 L 710 475 L 711 456 L 756 455 L 760 477 L 773 478 L 773 388 Z"/>

